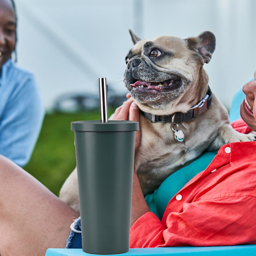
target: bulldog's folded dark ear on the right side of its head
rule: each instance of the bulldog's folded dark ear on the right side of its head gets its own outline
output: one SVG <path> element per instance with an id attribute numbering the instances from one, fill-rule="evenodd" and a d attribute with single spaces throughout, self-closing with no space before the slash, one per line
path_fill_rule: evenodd
<path id="1" fill-rule="evenodd" d="M 212 58 L 215 50 L 215 35 L 210 31 L 205 31 L 195 38 L 186 39 L 189 49 L 192 49 L 203 57 L 204 62 L 208 63 Z"/>

